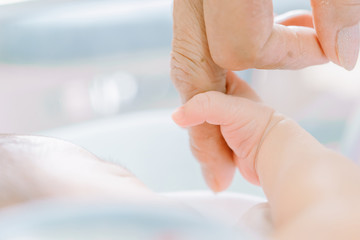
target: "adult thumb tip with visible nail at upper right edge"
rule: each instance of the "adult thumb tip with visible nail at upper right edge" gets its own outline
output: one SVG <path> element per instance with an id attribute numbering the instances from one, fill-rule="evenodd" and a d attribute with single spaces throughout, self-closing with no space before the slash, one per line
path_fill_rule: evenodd
<path id="1" fill-rule="evenodd" d="M 354 68 L 360 44 L 359 0 L 312 0 L 314 22 L 325 54 L 333 62 Z"/>

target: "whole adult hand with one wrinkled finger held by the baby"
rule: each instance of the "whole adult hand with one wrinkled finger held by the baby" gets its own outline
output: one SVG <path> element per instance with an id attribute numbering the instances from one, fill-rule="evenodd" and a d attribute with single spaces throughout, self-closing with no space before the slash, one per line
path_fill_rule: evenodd
<path id="1" fill-rule="evenodd" d="M 225 92 L 229 70 L 299 69 L 327 63 L 354 68 L 360 1 L 312 0 L 312 12 L 274 17 L 271 0 L 174 0 L 171 76 L 184 102 Z M 189 128 L 190 145 L 210 188 L 232 180 L 236 164 L 219 127 Z"/>

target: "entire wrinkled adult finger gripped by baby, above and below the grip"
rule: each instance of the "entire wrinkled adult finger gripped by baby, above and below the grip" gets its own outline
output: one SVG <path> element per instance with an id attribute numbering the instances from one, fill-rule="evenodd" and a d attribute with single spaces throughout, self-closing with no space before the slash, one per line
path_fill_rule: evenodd
<path id="1" fill-rule="evenodd" d="M 203 0 L 174 0 L 173 16 L 171 77 L 183 101 L 201 92 L 225 92 L 226 71 L 213 62 L 207 43 Z M 207 184 L 216 192 L 224 190 L 233 179 L 235 163 L 220 128 L 203 124 L 189 134 Z"/>

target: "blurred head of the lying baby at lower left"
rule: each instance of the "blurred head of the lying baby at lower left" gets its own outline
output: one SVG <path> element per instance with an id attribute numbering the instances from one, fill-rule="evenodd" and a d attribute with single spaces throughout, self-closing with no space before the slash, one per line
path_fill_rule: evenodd
<path id="1" fill-rule="evenodd" d="M 49 198 L 152 200 L 156 196 L 123 167 L 71 143 L 0 136 L 0 207 Z"/>

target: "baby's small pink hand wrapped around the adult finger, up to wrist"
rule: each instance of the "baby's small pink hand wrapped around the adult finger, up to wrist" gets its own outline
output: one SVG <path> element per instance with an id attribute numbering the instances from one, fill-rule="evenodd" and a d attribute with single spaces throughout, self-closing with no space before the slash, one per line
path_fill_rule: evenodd
<path id="1" fill-rule="evenodd" d="M 232 72 L 227 76 L 227 94 L 200 93 L 173 114 L 176 124 L 185 128 L 205 122 L 219 125 L 233 151 L 235 165 L 245 179 L 256 185 L 256 155 L 273 119 L 274 110 L 262 104 L 247 83 Z"/>

